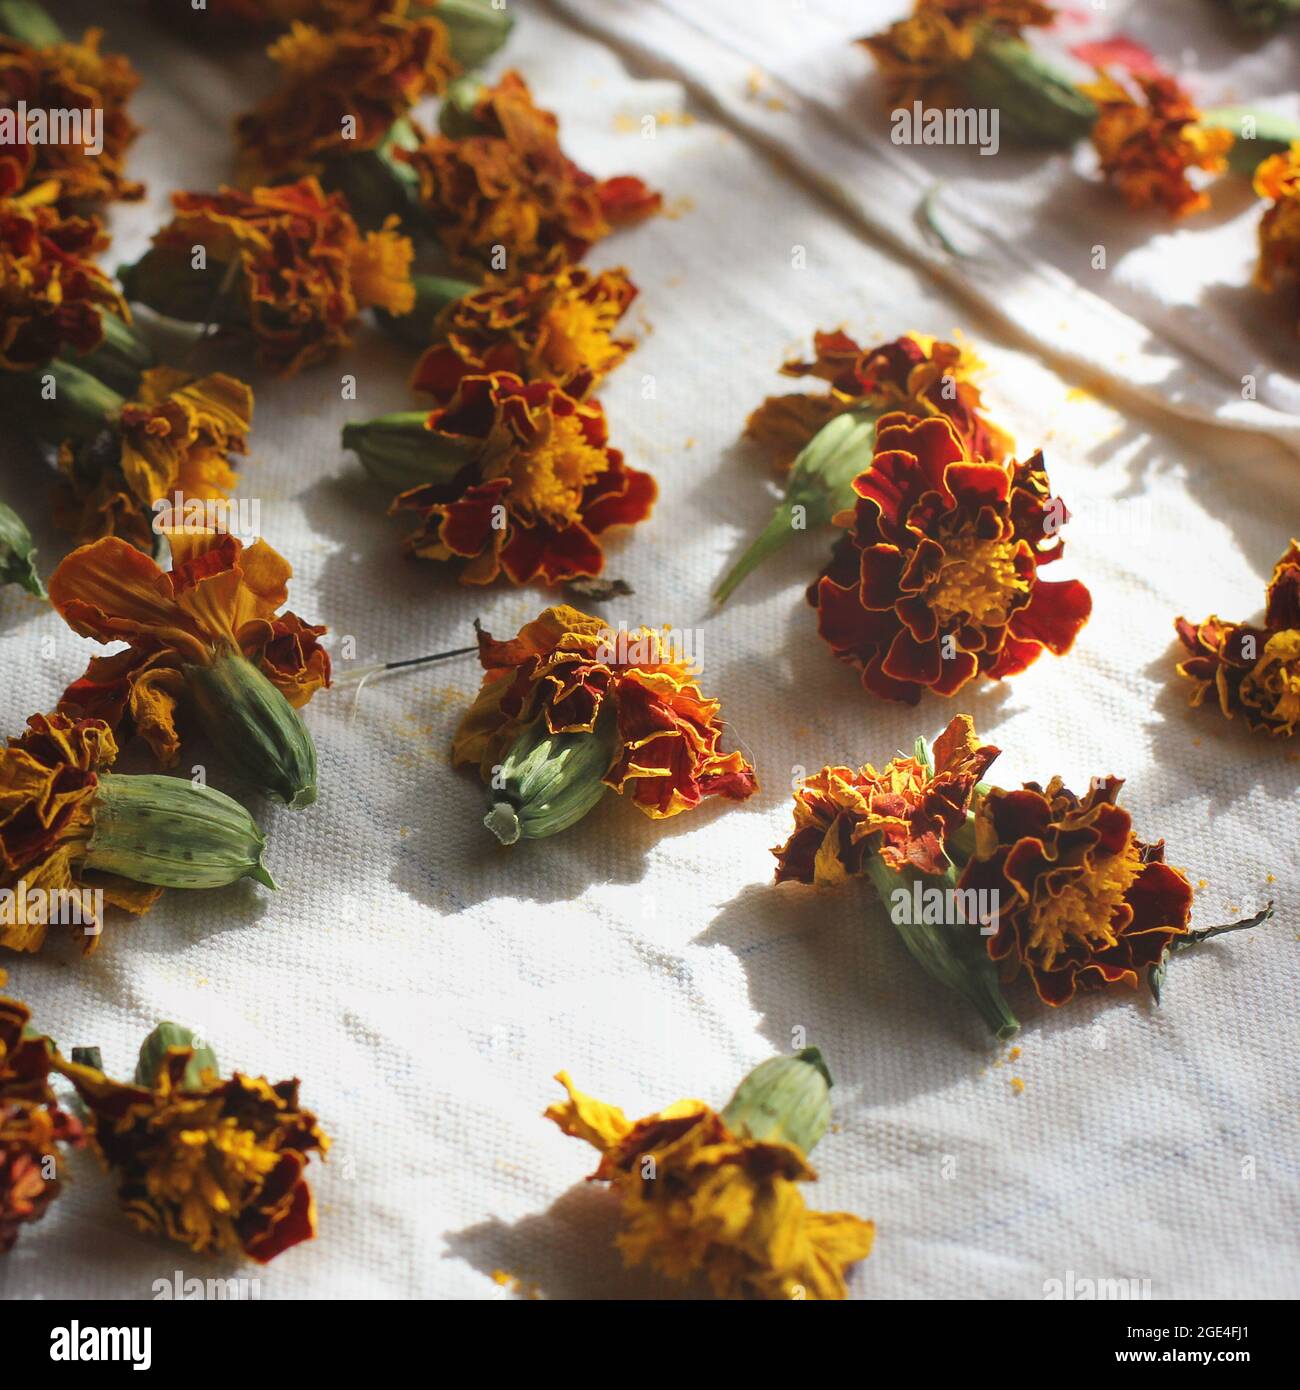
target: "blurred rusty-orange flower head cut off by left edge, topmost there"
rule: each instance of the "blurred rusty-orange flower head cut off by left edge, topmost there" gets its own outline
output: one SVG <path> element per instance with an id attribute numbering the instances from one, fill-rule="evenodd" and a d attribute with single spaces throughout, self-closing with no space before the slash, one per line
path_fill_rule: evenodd
<path id="1" fill-rule="evenodd" d="M 145 196 L 145 185 L 124 174 L 127 149 L 138 135 L 127 101 L 140 79 L 127 58 L 100 53 L 101 38 L 101 29 L 88 29 L 79 43 L 35 49 L 0 36 L 0 107 L 17 111 L 25 103 L 28 111 L 103 111 L 104 122 L 99 154 L 83 145 L 0 140 L 0 188 L 51 179 L 61 203 Z"/>

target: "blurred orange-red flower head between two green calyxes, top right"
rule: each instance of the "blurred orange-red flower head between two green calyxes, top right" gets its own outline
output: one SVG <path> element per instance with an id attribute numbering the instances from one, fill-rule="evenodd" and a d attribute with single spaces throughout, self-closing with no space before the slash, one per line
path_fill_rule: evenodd
<path id="1" fill-rule="evenodd" d="M 1171 76 L 1135 74 L 1130 83 L 1098 68 L 1098 79 L 1083 88 L 1101 113 L 1093 126 L 1101 172 L 1129 207 L 1158 203 L 1175 217 L 1201 211 L 1210 197 L 1187 171 L 1222 174 L 1232 132 L 1199 126 L 1200 111 Z"/>

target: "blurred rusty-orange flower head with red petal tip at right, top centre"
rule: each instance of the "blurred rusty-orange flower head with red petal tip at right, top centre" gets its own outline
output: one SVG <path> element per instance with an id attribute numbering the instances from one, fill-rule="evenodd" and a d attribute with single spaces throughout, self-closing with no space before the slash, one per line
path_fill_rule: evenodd
<path id="1" fill-rule="evenodd" d="M 396 157 L 420 178 L 420 202 L 452 261 L 469 270 L 524 271 L 581 260 L 592 243 L 662 206 L 638 178 L 596 179 L 559 145 L 559 122 L 506 72 L 481 88 L 471 133 L 425 135 Z M 494 265 L 502 246 L 506 265 Z"/>

